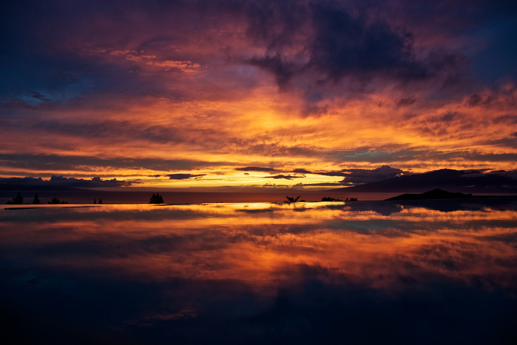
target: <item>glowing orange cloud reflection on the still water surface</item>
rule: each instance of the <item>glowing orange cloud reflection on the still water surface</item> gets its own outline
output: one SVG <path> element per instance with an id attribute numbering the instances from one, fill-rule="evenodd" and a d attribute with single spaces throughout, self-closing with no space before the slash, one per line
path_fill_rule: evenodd
<path id="1" fill-rule="evenodd" d="M 262 203 L 5 210 L 1 239 L 4 247 L 34 250 L 43 266 L 149 281 L 235 280 L 264 293 L 307 275 L 389 289 L 423 288 L 436 276 L 487 289 L 494 281 L 503 288 L 515 283 L 515 211 L 402 207 L 384 216 L 350 207 Z M 54 248 L 51 255 L 41 254 L 48 248 Z"/>

